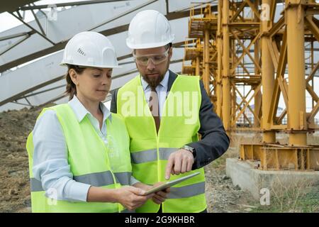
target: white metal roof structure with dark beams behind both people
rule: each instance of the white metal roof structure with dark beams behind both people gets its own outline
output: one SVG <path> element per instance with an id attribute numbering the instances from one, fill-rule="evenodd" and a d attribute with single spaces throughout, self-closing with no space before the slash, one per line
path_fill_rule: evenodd
<path id="1" fill-rule="evenodd" d="M 66 68 L 59 64 L 67 41 L 82 31 L 97 31 L 111 40 L 122 66 L 113 70 L 111 89 L 121 87 L 137 73 L 131 50 L 125 45 L 128 24 L 138 11 L 145 9 L 156 9 L 169 19 L 176 47 L 170 68 L 180 72 L 184 48 L 179 47 L 183 47 L 188 35 L 191 3 L 198 2 L 200 7 L 214 1 L 103 0 L 49 6 L 33 2 L 7 1 L 1 5 L 0 12 L 8 11 L 23 24 L 0 33 L 0 111 L 67 101 L 63 95 Z M 61 10 L 64 6 L 72 7 Z M 213 7 L 217 11 L 217 6 Z M 50 11 L 43 11 L 47 8 Z M 26 23 L 21 16 L 23 11 L 31 11 L 35 19 Z"/>

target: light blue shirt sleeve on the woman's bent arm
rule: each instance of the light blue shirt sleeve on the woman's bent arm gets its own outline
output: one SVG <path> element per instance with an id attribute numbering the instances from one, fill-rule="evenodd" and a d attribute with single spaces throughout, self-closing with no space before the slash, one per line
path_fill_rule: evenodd
<path id="1" fill-rule="evenodd" d="M 47 110 L 33 129 L 33 175 L 45 196 L 57 200 L 86 201 L 89 184 L 73 179 L 67 161 L 67 145 L 55 111 Z"/>

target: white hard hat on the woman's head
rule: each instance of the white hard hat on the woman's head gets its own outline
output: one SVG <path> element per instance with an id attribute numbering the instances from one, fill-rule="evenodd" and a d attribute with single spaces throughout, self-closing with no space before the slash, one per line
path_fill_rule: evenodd
<path id="1" fill-rule="evenodd" d="M 67 64 L 101 68 L 119 67 L 110 40 L 94 31 L 78 33 L 67 42 L 60 65 Z"/>

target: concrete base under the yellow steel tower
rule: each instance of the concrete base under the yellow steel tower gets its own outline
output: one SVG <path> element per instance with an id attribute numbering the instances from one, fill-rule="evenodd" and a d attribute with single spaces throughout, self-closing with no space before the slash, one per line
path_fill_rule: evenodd
<path id="1" fill-rule="evenodd" d="M 260 199 L 260 189 L 276 190 L 276 187 L 303 187 L 319 184 L 319 171 L 265 171 L 255 168 L 257 162 L 242 161 L 236 158 L 226 159 L 226 175 L 234 185 L 252 193 L 254 199 Z"/>

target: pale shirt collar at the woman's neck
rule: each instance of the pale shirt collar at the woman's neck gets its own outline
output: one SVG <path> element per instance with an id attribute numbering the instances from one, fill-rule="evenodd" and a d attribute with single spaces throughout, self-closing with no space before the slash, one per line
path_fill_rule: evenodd
<path id="1" fill-rule="evenodd" d="M 81 101 L 79 101 L 79 99 L 77 98 L 77 96 L 73 96 L 73 99 L 71 99 L 69 101 L 69 106 L 71 106 L 72 110 L 74 111 L 75 116 L 77 116 L 77 120 L 79 122 L 81 122 L 83 120 L 83 118 L 86 116 L 86 114 L 89 114 L 91 116 L 93 116 L 81 103 Z M 104 104 L 102 104 L 100 102 L 100 108 L 101 111 L 103 113 L 103 122 L 106 121 L 107 118 L 110 119 L 111 121 L 111 112 L 106 108 L 106 106 Z"/>

